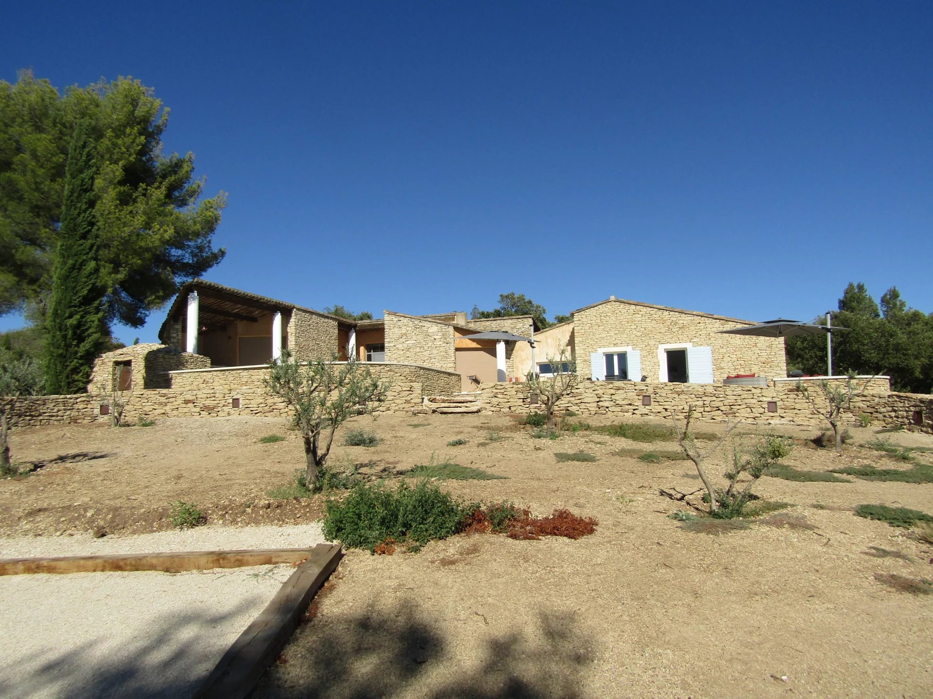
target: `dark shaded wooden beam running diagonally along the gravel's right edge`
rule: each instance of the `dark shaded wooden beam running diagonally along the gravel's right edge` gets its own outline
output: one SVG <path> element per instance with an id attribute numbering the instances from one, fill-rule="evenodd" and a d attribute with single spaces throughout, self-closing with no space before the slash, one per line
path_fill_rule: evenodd
<path id="1" fill-rule="evenodd" d="M 224 653 L 194 699 L 243 699 L 252 692 L 298 628 L 304 610 L 337 568 L 342 555 L 340 544 L 317 544 L 308 560 Z"/>

